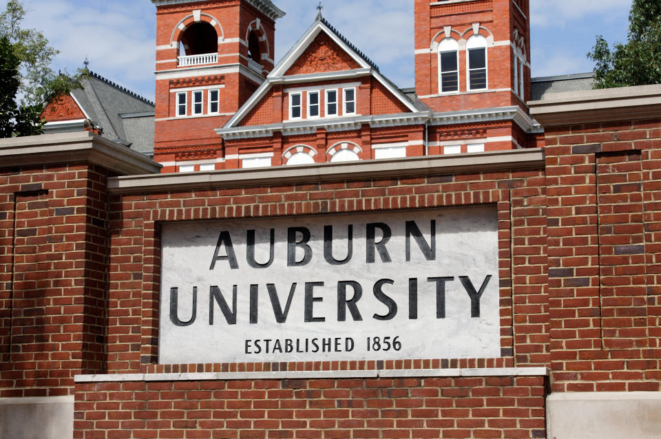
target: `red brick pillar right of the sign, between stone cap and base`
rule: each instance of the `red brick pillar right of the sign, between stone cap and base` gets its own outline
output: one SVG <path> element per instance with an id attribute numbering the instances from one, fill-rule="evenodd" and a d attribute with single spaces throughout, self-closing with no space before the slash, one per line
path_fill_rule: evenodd
<path id="1" fill-rule="evenodd" d="M 661 120 L 547 129 L 552 389 L 660 389 Z"/>

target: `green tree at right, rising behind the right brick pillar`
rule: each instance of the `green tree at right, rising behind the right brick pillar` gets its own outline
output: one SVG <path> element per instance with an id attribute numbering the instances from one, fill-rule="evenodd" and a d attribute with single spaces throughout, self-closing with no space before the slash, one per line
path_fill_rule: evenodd
<path id="1" fill-rule="evenodd" d="M 611 50 L 600 35 L 587 56 L 596 63 L 594 88 L 661 84 L 661 0 L 633 0 L 629 41 Z"/>

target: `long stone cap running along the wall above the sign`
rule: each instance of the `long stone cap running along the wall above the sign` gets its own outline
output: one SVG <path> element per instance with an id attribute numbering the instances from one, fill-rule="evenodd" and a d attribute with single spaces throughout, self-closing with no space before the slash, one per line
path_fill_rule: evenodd
<path id="1" fill-rule="evenodd" d="M 408 157 L 358 162 L 301 164 L 255 169 L 224 169 L 191 173 L 131 175 L 110 178 L 112 193 L 167 192 L 269 184 L 337 182 L 365 178 L 395 178 L 414 175 L 449 175 L 496 169 L 543 169 L 543 149 L 464 153 L 454 156 Z"/>

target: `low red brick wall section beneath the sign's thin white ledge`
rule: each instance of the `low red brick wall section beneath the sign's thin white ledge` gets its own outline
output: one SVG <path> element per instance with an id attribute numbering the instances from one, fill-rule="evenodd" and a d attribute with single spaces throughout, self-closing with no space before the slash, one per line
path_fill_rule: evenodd
<path id="1" fill-rule="evenodd" d="M 545 438 L 543 377 L 76 385 L 75 439 Z"/>

